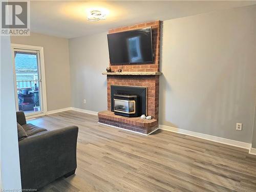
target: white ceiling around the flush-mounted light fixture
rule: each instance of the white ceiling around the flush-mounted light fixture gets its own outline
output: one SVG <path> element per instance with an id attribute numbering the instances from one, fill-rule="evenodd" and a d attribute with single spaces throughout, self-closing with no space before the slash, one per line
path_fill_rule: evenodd
<path id="1" fill-rule="evenodd" d="M 31 31 L 73 38 L 151 20 L 254 5 L 256 1 L 31 1 Z M 109 10 L 106 20 L 89 22 L 91 8 Z"/>

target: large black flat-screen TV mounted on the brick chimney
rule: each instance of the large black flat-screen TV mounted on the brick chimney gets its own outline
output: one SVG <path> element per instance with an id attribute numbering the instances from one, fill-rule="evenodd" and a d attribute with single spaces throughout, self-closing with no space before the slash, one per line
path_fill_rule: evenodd
<path id="1" fill-rule="evenodd" d="M 153 62 L 151 27 L 108 34 L 110 63 Z"/>

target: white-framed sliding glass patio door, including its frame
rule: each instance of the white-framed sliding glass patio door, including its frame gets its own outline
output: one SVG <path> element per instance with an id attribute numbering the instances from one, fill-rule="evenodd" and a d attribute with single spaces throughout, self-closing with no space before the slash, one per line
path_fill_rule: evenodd
<path id="1" fill-rule="evenodd" d="M 13 48 L 16 110 L 26 116 L 45 113 L 39 50 Z"/>

